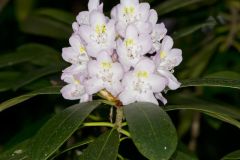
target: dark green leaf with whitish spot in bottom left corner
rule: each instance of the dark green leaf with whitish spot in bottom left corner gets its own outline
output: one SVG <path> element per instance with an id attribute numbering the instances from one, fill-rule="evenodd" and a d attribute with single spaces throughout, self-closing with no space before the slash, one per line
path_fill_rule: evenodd
<path id="1" fill-rule="evenodd" d="M 30 140 L 25 140 L 11 149 L 0 153 L 0 160 L 31 160 L 28 153 Z"/>

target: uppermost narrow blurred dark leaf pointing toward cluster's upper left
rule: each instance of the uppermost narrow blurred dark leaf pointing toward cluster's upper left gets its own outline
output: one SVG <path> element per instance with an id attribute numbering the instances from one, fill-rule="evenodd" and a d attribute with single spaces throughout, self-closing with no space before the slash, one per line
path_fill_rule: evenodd
<path id="1" fill-rule="evenodd" d="M 71 13 L 68 13 L 60 9 L 42 8 L 42 9 L 38 9 L 35 13 L 37 15 L 46 16 L 54 20 L 66 23 L 70 26 L 75 21 L 75 17 Z"/>

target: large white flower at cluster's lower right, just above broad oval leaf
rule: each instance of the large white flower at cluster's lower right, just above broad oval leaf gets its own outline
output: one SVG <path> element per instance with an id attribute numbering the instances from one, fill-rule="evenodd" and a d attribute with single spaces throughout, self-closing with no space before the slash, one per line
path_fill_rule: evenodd
<path id="1" fill-rule="evenodd" d="M 122 83 L 124 90 L 119 95 L 119 99 L 123 105 L 136 101 L 158 104 L 154 93 L 160 93 L 165 88 L 166 80 L 155 73 L 153 61 L 144 58 L 133 71 L 124 75 Z"/>

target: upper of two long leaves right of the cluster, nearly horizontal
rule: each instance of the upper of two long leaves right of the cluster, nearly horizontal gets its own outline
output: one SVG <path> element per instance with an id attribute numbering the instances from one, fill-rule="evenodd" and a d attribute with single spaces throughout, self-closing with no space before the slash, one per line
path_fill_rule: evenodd
<path id="1" fill-rule="evenodd" d="M 201 78 L 201 79 L 188 79 L 181 81 L 181 87 L 190 86 L 209 86 L 209 87 L 229 87 L 240 89 L 239 79 L 228 78 Z"/>

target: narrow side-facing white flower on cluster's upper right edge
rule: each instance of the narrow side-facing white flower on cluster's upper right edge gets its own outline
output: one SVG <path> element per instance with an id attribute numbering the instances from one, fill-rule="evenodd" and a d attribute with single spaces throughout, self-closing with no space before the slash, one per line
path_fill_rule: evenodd
<path id="1" fill-rule="evenodd" d="M 167 29 L 163 23 L 157 24 L 158 15 L 154 9 L 150 10 L 149 22 L 152 24 L 153 30 L 151 32 L 151 38 L 153 42 L 152 50 L 150 53 L 154 53 L 160 50 L 161 43 L 160 41 L 167 34 Z"/>

